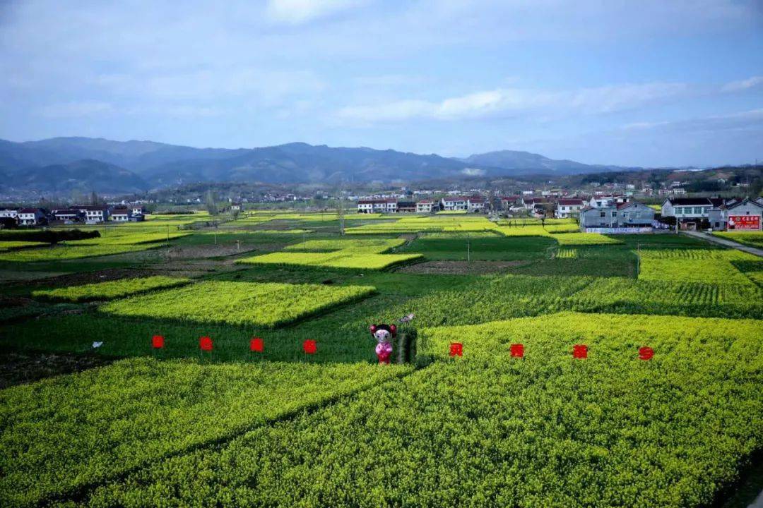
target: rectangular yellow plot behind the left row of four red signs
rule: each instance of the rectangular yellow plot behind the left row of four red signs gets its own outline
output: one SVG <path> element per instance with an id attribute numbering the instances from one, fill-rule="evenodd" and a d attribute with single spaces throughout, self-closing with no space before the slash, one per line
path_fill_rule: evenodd
<path id="1" fill-rule="evenodd" d="M 208 281 L 111 302 L 100 310 L 121 316 L 276 327 L 374 291 L 371 286 Z"/>

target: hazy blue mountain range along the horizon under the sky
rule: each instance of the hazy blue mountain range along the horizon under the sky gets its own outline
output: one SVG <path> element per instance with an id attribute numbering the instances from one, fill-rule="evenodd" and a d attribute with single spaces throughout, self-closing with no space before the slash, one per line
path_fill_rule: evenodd
<path id="1" fill-rule="evenodd" d="M 447 158 L 302 142 L 254 149 L 197 149 L 152 141 L 84 137 L 30 142 L 0 140 L 0 190 L 5 192 L 127 193 L 204 181 L 359 183 L 630 169 L 637 168 L 586 165 L 511 150 Z"/>

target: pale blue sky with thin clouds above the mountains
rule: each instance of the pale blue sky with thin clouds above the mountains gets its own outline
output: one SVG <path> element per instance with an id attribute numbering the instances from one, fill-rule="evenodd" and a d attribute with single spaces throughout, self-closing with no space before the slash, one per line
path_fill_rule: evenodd
<path id="1" fill-rule="evenodd" d="M 763 0 L 0 0 L 0 139 L 763 160 Z"/>

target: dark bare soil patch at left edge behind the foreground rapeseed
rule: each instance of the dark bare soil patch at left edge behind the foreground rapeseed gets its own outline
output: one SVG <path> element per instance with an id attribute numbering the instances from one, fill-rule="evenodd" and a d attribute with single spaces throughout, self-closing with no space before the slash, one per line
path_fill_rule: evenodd
<path id="1" fill-rule="evenodd" d="M 53 375 L 82 372 L 108 365 L 114 358 L 95 354 L 0 352 L 0 389 L 49 378 Z"/>

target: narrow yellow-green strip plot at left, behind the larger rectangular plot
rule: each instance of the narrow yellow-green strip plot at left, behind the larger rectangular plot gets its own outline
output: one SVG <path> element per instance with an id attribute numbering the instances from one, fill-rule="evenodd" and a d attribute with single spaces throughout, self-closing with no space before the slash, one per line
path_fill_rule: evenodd
<path id="1" fill-rule="evenodd" d="M 134 295 L 152 289 L 182 286 L 191 282 L 179 277 L 153 276 L 140 279 L 114 280 L 105 283 L 83 284 L 56 289 L 37 289 L 32 296 L 41 299 L 63 300 L 67 302 L 87 302 L 90 300 L 111 300 Z"/>

